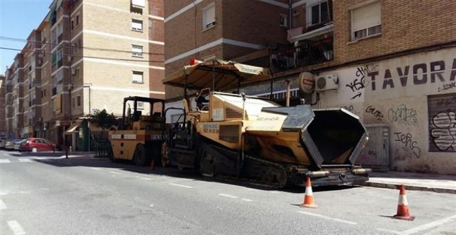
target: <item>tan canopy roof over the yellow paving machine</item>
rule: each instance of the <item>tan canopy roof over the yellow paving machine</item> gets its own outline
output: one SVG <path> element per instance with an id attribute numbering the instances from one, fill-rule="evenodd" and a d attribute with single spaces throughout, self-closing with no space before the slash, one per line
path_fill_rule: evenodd
<path id="1" fill-rule="evenodd" d="M 196 64 L 184 66 L 163 79 L 163 84 L 184 87 L 187 83 L 187 88 L 192 90 L 213 88 L 215 91 L 227 91 L 237 88 L 238 85 L 245 86 L 266 81 L 269 78 L 267 68 L 211 59 L 207 62 L 196 61 Z"/>

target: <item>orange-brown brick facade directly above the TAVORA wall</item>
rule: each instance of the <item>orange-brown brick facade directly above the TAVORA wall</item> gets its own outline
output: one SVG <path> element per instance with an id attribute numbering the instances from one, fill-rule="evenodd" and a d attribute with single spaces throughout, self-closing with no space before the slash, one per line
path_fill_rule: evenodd
<path id="1" fill-rule="evenodd" d="M 453 1 L 381 1 L 381 35 L 350 41 L 350 6 L 334 1 L 334 64 L 443 44 L 456 39 Z"/>

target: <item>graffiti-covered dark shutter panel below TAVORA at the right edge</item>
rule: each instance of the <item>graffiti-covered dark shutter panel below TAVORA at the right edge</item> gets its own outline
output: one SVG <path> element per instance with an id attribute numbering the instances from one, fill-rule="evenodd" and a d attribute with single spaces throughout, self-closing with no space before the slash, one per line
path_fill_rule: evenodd
<path id="1" fill-rule="evenodd" d="M 429 151 L 456 152 L 456 94 L 428 97 Z"/>

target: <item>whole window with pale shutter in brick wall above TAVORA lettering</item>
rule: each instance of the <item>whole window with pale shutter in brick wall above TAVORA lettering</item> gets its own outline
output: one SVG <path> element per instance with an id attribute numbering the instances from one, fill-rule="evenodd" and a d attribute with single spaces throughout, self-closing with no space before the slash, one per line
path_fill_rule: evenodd
<path id="1" fill-rule="evenodd" d="M 381 34 L 380 1 L 351 10 L 352 41 Z"/>

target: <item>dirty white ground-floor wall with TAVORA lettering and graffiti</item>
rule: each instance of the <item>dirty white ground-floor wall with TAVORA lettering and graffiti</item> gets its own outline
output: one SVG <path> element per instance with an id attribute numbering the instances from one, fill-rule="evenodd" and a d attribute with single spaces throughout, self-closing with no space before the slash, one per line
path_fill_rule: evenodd
<path id="1" fill-rule="evenodd" d="M 326 73 L 339 76 L 339 89 L 321 93 L 319 107 L 388 124 L 391 169 L 456 172 L 456 48 Z"/>

